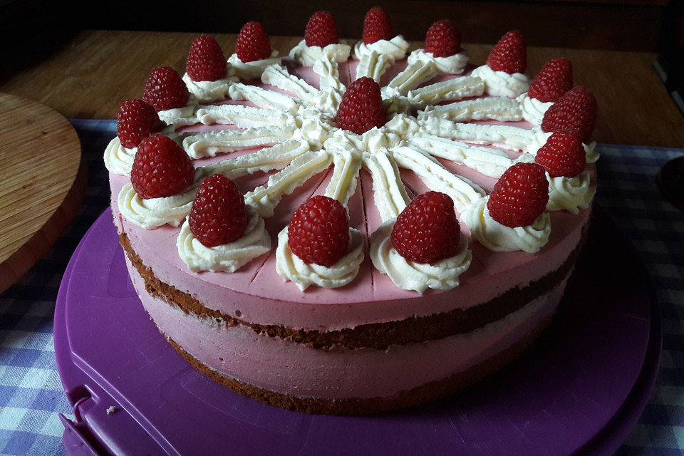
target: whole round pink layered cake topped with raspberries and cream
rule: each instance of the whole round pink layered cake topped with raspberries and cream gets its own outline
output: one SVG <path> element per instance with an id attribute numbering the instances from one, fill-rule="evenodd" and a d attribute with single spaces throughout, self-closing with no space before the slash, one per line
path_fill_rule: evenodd
<path id="1" fill-rule="evenodd" d="M 199 37 L 184 76 L 157 68 L 122 105 L 105 163 L 130 279 L 204 375 L 378 413 L 549 325 L 589 227 L 593 95 L 565 59 L 530 83 L 517 32 L 479 67 L 450 21 L 408 48 L 381 9 L 355 46 L 318 11 L 284 58 L 251 22 L 228 59 Z"/>

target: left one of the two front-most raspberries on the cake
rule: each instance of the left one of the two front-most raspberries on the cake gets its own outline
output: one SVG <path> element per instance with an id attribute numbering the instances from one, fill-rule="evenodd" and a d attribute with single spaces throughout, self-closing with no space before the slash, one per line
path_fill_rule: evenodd
<path id="1" fill-rule="evenodd" d="M 287 244 L 306 263 L 332 266 L 349 248 L 349 222 L 341 202 L 321 195 L 306 200 L 292 214 Z"/>

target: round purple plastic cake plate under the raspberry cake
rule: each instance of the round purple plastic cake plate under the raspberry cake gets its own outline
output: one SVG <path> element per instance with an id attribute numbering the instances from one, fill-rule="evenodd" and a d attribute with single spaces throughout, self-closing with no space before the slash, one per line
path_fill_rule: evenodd
<path id="1" fill-rule="evenodd" d="M 596 207 L 553 326 L 519 361 L 430 405 L 307 415 L 223 388 L 167 344 L 133 291 L 107 210 L 57 299 L 57 363 L 76 416 L 62 417 L 63 442 L 69 455 L 609 455 L 658 368 L 650 290 L 636 252 Z"/>

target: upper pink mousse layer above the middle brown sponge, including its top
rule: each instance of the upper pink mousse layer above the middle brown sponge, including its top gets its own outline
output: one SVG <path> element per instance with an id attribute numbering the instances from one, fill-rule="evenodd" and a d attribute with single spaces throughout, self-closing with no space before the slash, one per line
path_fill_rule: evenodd
<path id="1" fill-rule="evenodd" d="M 386 78 L 398 73 L 401 65 L 402 63 L 398 63 L 398 66 L 390 68 L 383 76 L 383 81 L 386 83 Z M 291 71 L 317 86 L 318 75 L 310 68 L 296 68 Z M 343 82 L 353 80 L 350 75 L 356 74 L 356 63 L 341 65 L 340 73 Z M 524 123 L 515 124 L 529 126 Z M 206 165 L 258 149 L 259 147 L 197 160 L 195 165 Z M 510 152 L 510 155 L 519 154 Z M 447 160 L 440 162 L 448 170 L 476 182 L 487 192 L 492 190 L 496 181 L 463 165 Z M 588 169 L 592 173 L 595 172 L 593 165 Z M 210 309 L 239 316 L 251 323 L 336 331 L 366 323 L 397 321 L 414 315 L 426 316 L 453 309 L 467 309 L 494 299 L 515 286 L 526 286 L 531 281 L 558 269 L 566 261 L 570 252 L 581 241 L 582 229 L 589 222 L 590 209 L 581 210 L 578 215 L 566 211 L 551 212 L 551 237 L 548 244 L 537 254 L 492 252 L 479 243 L 470 241 L 472 264 L 470 269 L 460 276 L 460 286 L 450 291 L 427 290 L 420 296 L 414 291 L 398 288 L 388 276 L 381 274 L 371 264 L 367 241 L 366 259 L 361 264 L 356 279 L 350 284 L 337 289 L 311 286 L 301 292 L 296 284 L 284 282 L 276 273 L 276 237 L 301 202 L 311 195 L 325 192 L 332 170 L 331 166 L 281 200 L 274 217 L 266 219 L 266 229 L 273 243 L 271 252 L 252 260 L 233 274 L 190 272 L 177 254 L 176 238 L 180 228 L 165 225 L 146 230 L 128 222 L 120 215 L 117 197 L 121 187 L 130 180 L 128 177 L 110 174 L 115 224 L 120 232 L 128 236 L 135 252 L 157 278 L 191 294 Z M 412 171 L 401 170 L 401 173 L 411 197 L 428 190 Z M 263 185 L 268 177 L 264 173 L 256 173 L 239 178 L 236 182 L 242 192 L 247 192 L 258 185 Z M 350 225 L 359 229 L 366 239 L 370 238 L 381 222 L 378 209 L 373 203 L 372 185 L 371 175 L 366 170 L 361 170 L 356 193 L 348 203 Z M 465 225 L 462 225 L 461 229 L 465 236 L 470 237 Z"/>

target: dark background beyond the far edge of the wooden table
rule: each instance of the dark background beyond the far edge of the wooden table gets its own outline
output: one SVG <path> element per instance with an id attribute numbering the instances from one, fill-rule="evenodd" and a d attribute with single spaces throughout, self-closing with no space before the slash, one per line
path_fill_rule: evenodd
<path id="1" fill-rule="evenodd" d="M 684 0 L 0 0 L 0 81 L 84 29 L 237 33 L 257 20 L 270 35 L 302 36 L 309 16 L 328 10 L 340 37 L 356 39 L 372 6 L 408 40 L 423 41 L 437 19 L 455 21 L 467 43 L 516 28 L 530 46 L 658 52 L 670 90 L 684 79 Z"/>

